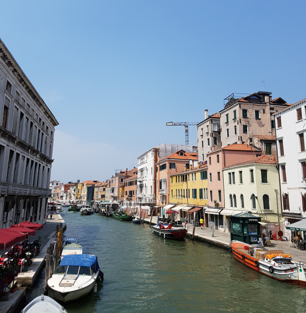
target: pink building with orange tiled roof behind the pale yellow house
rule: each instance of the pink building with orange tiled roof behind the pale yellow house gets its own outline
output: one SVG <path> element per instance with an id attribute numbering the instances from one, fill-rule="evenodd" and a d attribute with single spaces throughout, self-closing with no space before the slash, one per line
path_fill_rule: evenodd
<path id="1" fill-rule="evenodd" d="M 224 230 L 223 216 L 220 211 L 224 209 L 224 189 L 222 168 L 261 156 L 262 151 L 253 149 L 246 144 L 232 144 L 219 150 L 207 153 L 208 178 L 208 221 L 215 222 L 216 229 Z M 238 177 L 237 177 L 238 179 Z M 226 217 L 224 217 L 226 218 Z"/>

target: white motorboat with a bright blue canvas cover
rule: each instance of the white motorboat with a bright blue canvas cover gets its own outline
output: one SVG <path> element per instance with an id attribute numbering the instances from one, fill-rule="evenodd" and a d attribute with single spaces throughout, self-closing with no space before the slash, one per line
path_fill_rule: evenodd
<path id="1" fill-rule="evenodd" d="M 48 280 L 53 297 L 69 302 L 97 291 L 97 282 L 103 280 L 96 255 L 64 255 L 59 267 Z"/>

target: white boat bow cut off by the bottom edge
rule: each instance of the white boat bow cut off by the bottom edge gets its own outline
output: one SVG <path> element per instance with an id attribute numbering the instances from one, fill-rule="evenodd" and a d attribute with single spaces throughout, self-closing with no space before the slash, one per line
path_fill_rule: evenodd
<path id="1" fill-rule="evenodd" d="M 21 313 L 67 313 L 64 306 L 48 296 L 41 295 L 24 307 Z"/>

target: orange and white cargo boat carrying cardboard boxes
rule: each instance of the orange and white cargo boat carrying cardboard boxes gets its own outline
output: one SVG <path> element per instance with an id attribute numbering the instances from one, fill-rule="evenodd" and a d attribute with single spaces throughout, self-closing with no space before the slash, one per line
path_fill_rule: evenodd
<path id="1" fill-rule="evenodd" d="M 232 240 L 230 251 L 241 263 L 277 280 L 306 286 L 306 268 L 302 262 L 295 263 L 290 254 L 282 250 L 255 248 L 250 244 Z"/>

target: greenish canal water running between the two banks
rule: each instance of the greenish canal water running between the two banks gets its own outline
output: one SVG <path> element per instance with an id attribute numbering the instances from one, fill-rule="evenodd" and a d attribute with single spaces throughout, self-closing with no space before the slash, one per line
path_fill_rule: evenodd
<path id="1" fill-rule="evenodd" d="M 226 250 L 165 240 L 148 224 L 62 212 L 66 237 L 96 254 L 104 272 L 98 292 L 64 304 L 91 312 L 306 312 L 306 288 L 288 285 L 238 262 Z M 42 293 L 43 277 L 28 300 Z"/>

